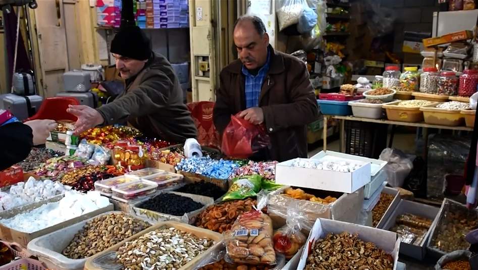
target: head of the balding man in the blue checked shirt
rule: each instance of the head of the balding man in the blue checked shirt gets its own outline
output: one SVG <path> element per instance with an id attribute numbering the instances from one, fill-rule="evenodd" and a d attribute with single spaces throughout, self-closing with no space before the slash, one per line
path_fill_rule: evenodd
<path id="1" fill-rule="evenodd" d="M 234 45 L 242 64 L 249 70 L 262 67 L 267 61 L 269 35 L 257 16 L 244 15 L 234 23 Z"/>

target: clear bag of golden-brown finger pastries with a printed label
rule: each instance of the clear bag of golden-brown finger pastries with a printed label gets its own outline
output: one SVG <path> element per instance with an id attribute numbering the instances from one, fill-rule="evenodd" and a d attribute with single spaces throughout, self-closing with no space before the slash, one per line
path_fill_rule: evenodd
<path id="1" fill-rule="evenodd" d="M 260 198 L 259 198 L 260 197 Z M 267 205 L 268 196 L 257 196 L 256 209 Z M 227 262 L 248 264 L 276 264 L 272 242 L 272 220 L 269 215 L 253 209 L 237 217 L 225 239 Z"/>

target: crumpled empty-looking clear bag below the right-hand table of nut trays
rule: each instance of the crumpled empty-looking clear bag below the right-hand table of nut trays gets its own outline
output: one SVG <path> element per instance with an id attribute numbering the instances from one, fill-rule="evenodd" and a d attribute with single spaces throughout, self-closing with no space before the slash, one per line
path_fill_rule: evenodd
<path id="1" fill-rule="evenodd" d="M 388 161 L 384 170 L 387 172 L 387 181 L 392 187 L 401 187 L 405 178 L 413 169 L 413 159 L 398 149 L 385 148 L 379 159 Z"/>

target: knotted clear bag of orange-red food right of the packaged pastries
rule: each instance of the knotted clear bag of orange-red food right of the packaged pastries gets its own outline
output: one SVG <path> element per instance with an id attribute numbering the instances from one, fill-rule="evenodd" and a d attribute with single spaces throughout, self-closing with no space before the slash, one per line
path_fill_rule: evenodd
<path id="1" fill-rule="evenodd" d="M 287 209 L 286 225 L 274 233 L 274 250 L 284 254 L 286 259 L 292 258 L 307 240 L 301 232 L 301 221 L 304 219 L 297 203 L 292 203 Z"/>

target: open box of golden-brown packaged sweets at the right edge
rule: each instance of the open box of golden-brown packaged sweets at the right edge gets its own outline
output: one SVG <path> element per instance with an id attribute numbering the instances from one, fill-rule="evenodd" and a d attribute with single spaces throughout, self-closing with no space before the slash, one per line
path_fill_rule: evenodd
<path id="1" fill-rule="evenodd" d="M 454 250 L 467 250 L 470 244 L 465 235 L 478 228 L 478 211 L 444 199 L 438 215 L 438 224 L 427 243 L 429 253 L 439 258 Z"/>

